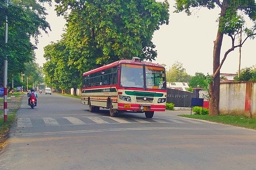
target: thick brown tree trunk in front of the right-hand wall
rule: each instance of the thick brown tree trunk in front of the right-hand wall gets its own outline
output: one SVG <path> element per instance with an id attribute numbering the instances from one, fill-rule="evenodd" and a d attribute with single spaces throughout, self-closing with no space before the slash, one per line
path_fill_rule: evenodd
<path id="1" fill-rule="evenodd" d="M 226 10 L 222 8 L 220 16 L 224 16 Z M 219 21 L 220 25 L 221 20 Z M 216 40 L 213 48 L 213 80 L 210 84 L 210 101 L 209 101 L 209 115 L 219 115 L 220 102 L 220 50 L 223 40 L 223 33 L 218 29 Z"/>

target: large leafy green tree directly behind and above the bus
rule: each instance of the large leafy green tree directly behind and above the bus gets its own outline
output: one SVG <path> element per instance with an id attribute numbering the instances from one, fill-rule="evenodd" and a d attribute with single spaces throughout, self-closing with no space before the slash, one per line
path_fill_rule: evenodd
<path id="1" fill-rule="evenodd" d="M 134 56 L 149 61 L 156 58 L 152 35 L 160 25 L 168 24 L 167 0 L 55 2 L 57 14 L 67 21 L 69 62 L 78 70 Z"/>

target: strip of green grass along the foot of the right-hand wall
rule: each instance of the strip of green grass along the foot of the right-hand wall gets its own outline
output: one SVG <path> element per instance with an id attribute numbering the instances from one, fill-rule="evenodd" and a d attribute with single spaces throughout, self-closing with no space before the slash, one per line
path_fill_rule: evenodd
<path id="1" fill-rule="evenodd" d="M 202 119 L 207 121 L 212 121 L 216 123 L 222 123 L 226 125 L 233 125 L 239 127 L 245 127 L 249 129 L 256 129 L 256 119 L 249 118 L 246 116 L 237 116 L 237 115 L 218 115 L 218 116 L 210 116 L 210 115 L 179 115 L 182 117 L 189 117 L 193 119 Z"/>

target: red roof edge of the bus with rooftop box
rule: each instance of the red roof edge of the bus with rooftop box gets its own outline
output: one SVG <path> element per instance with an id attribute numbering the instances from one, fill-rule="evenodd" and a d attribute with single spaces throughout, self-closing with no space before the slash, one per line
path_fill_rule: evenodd
<path id="1" fill-rule="evenodd" d="M 123 60 L 115 61 L 113 63 L 101 66 L 99 68 L 95 68 L 94 70 L 90 70 L 88 72 L 84 72 L 83 76 L 85 76 L 87 74 L 94 73 L 94 72 L 98 72 L 100 70 L 105 70 L 107 68 L 112 68 L 112 67 L 118 66 L 120 64 L 138 64 L 138 65 L 146 65 L 146 66 L 164 67 L 161 64 L 150 63 L 150 62 L 146 62 L 146 61 L 139 61 L 137 57 L 133 57 L 132 60 L 123 59 Z"/>

